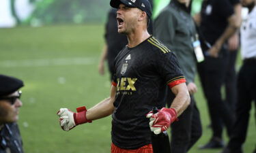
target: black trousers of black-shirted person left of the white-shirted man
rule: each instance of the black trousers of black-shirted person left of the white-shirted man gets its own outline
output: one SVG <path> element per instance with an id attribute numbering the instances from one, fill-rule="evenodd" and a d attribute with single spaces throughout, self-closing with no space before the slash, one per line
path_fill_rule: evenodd
<path id="1" fill-rule="evenodd" d="M 213 137 L 222 137 L 223 124 L 231 134 L 234 116 L 231 107 L 223 101 L 221 86 L 225 82 L 228 54 L 222 49 L 218 58 L 205 56 L 205 61 L 199 63 L 198 72 L 203 87 L 203 93 L 208 102 L 208 110 L 212 124 Z"/>

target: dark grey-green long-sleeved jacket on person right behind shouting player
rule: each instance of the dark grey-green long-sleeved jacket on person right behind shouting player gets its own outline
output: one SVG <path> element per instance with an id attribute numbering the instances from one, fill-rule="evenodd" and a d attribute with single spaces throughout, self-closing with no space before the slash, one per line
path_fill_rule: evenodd
<path id="1" fill-rule="evenodd" d="M 195 80 L 197 62 L 193 41 L 196 34 L 190 7 L 180 4 L 177 0 L 172 0 L 154 21 L 154 35 L 177 56 L 187 83 Z"/>

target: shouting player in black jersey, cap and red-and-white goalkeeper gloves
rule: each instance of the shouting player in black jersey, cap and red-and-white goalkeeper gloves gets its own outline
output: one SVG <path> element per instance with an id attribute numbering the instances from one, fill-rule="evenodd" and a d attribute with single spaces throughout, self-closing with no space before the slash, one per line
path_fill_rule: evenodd
<path id="1" fill-rule="evenodd" d="M 118 33 L 128 37 L 128 45 L 115 58 L 111 97 L 88 111 L 61 108 L 57 115 L 61 128 L 69 131 L 112 114 L 112 153 L 152 153 L 151 131 L 166 131 L 190 104 L 186 80 L 173 52 L 147 32 L 152 15 L 149 1 L 111 0 L 110 4 L 118 8 Z M 175 95 L 171 108 L 165 108 L 167 88 Z M 151 115 L 153 107 L 160 110 Z"/>

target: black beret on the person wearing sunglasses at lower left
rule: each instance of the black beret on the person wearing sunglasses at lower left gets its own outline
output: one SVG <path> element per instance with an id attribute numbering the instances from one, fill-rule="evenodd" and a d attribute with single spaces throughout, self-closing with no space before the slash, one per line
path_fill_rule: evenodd
<path id="1" fill-rule="evenodd" d="M 23 81 L 0 74 L 0 97 L 10 95 L 23 86 Z"/>

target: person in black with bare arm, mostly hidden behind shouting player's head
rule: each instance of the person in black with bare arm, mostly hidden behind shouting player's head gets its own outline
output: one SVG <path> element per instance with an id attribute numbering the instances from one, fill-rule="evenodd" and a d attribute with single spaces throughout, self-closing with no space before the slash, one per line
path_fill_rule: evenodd
<path id="1" fill-rule="evenodd" d="M 153 6 L 152 0 L 150 4 Z M 117 9 L 111 8 L 108 13 L 108 17 L 105 25 L 105 35 L 104 39 L 106 41 L 102 54 L 100 56 L 100 63 L 98 65 L 98 71 L 101 75 L 104 75 L 104 61 L 107 60 L 109 72 L 111 75 L 111 80 L 114 75 L 114 61 L 117 54 L 128 44 L 126 35 L 120 35 L 117 32 Z M 150 34 L 152 34 L 152 22 L 150 22 L 149 27 L 147 28 Z"/>

